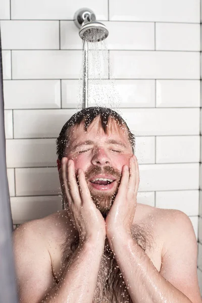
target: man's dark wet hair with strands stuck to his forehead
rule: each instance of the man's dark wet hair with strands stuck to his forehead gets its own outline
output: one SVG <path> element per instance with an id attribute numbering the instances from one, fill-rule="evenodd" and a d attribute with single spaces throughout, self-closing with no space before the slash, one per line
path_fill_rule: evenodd
<path id="1" fill-rule="evenodd" d="M 84 131 L 87 131 L 88 126 L 92 123 L 92 121 L 97 117 L 100 116 L 100 126 L 103 128 L 105 134 L 109 132 L 109 125 L 108 122 L 114 120 L 116 124 L 119 126 L 118 131 L 120 129 L 126 129 L 128 132 L 128 140 L 131 143 L 132 151 L 134 154 L 135 151 L 135 136 L 131 133 L 130 129 L 128 128 L 126 122 L 123 118 L 115 111 L 109 108 L 103 107 L 89 107 L 82 109 L 81 111 L 75 113 L 63 126 L 57 140 L 57 155 L 58 159 L 62 160 L 64 157 L 65 149 L 67 144 L 69 143 L 69 138 L 71 136 L 70 130 L 71 127 L 75 125 L 80 125 L 82 122 L 84 123 Z M 112 120 L 113 119 L 113 120 Z"/>

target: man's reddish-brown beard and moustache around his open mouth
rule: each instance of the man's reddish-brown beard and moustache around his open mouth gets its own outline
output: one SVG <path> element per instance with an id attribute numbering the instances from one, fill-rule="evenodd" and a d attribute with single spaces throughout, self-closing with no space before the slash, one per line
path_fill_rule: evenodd
<path id="1" fill-rule="evenodd" d="M 110 174 L 113 177 L 115 177 L 115 179 L 116 179 L 114 181 L 114 182 L 116 182 L 114 189 L 111 190 L 110 192 L 109 192 L 109 190 L 108 190 L 108 192 L 98 191 L 98 190 L 88 186 L 91 198 L 92 198 L 95 206 L 98 208 L 100 213 L 103 215 L 104 219 L 106 219 L 106 217 L 113 205 L 114 199 L 117 195 L 122 175 L 117 169 L 114 169 L 111 166 L 104 166 L 103 168 L 101 168 L 100 166 L 95 166 L 86 171 L 85 179 L 87 182 L 90 182 L 88 180 L 98 174 Z"/>

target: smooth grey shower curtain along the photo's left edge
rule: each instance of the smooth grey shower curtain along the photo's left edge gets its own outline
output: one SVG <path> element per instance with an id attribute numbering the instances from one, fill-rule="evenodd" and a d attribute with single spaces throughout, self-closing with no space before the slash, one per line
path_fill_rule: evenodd
<path id="1" fill-rule="evenodd" d="M 18 303 L 13 255 L 11 204 L 6 167 L 6 138 L 4 125 L 4 95 L 2 43 L 0 28 L 0 302 Z"/>

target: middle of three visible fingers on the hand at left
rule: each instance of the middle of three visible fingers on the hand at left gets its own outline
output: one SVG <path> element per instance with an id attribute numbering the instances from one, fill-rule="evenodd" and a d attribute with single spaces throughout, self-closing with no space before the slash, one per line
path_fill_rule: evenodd
<path id="1" fill-rule="evenodd" d="M 75 174 L 75 165 L 73 160 L 69 160 L 67 164 L 67 182 L 69 187 L 69 192 L 73 203 L 80 204 L 81 203 L 81 195 L 79 191 L 79 187 L 76 180 Z"/>

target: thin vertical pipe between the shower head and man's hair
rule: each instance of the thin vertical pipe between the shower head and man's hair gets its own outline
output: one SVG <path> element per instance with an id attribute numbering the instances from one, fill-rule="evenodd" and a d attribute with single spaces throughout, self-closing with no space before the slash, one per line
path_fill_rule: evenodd
<path id="1" fill-rule="evenodd" d="M 84 51 L 84 75 L 83 75 L 83 107 L 88 107 L 88 47 L 86 47 L 87 41 L 83 40 Z"/>

